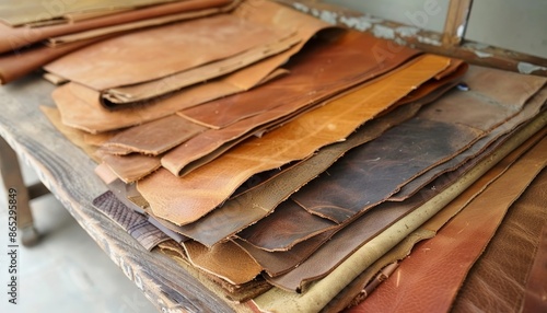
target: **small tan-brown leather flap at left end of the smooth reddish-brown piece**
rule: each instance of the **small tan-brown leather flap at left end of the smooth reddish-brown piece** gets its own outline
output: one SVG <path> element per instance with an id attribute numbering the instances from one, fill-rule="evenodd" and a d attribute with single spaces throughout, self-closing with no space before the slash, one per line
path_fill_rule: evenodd
<path id="1" fill-rule="evenodd" d="M 177 115 L 170 115 L 120 131 L 103 147 L 120 147 L 131 152 L 159 155 L 206 129 Z"/>

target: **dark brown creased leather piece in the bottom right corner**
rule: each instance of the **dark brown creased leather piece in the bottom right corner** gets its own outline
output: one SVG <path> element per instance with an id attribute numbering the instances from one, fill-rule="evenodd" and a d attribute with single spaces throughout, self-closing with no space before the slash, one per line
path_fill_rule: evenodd
<path id="1" fill-rule="evenodd" d="M 544 311 L 545 298 L 540 295 L 545 294 L 545 275 L 535 276 L 534 259 L 537 260 L 540 252 L 545 251 L 542 230 L 545 230 L 547 222 L 546 184 L 547 171 L 544 170 L 510 208 L 503 223 L 464 281 L 453 304 L 454 312 Z M 528 289 L 532 281 L 540 283 Z M 528 295 L 539 295 L 536 298 L 539 301 L 528 303 Z M 534 303 L 538 306 L 533 306 Z"/>

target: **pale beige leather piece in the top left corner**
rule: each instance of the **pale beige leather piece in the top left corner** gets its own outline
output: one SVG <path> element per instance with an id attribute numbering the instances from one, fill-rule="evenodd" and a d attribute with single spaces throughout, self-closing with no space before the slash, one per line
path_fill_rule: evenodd
<path id="1" fill-rule="evenodd" d="M 62 3 L 38 3 L 33 0 L 7 0 L 0 5 L 2 12 L 0 20 L 10 25 L 23 25 L 39 21 L 57 20 L 63 18 L 65 14 L 75 12 L 108 12 L 112 10 L 135 9 L 171 1 L 172 0 L 121 0 L 114 4 L 112 1 L 105 0 L 67 1 Z M 62 5 L 62 10 L 59 10 L 56 5 Z M 48 10 L 45 11 L 45 9 Z"/>

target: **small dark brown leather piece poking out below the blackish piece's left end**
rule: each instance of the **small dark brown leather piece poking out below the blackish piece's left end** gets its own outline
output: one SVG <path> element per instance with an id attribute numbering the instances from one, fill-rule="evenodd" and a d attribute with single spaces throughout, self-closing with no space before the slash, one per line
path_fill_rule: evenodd
<path id="1" fill-rule="evenodd" d="M 275 215 L 244 229 L 237 236 L 265 251 L 288 251 L 299 242 L 336 227 L 336 223 L 318 217 L 305 219 L 306 215 L 300 206 L 287 200 L 276 208 Z M 302 223 L 301 218 L 306 222 Z M 293 236 L 294 234 L 298 236 Z"/>

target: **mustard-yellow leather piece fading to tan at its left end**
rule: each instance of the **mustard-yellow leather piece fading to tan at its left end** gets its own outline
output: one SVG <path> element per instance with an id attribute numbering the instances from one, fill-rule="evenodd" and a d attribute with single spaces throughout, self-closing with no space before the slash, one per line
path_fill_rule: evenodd
<path id="1" fill-rule="evenodd" d="M 261 138 L 241 143 L 184 177 L 174 177 L 162 169 L 140 181 L 137 187 L 154 215 L 175 224 L 194 222 L 221 205 L 253 174 L 305 159 L 318 148 L 345 139 L 449 65 L 450 59 L 444 57 L 421 56 L 347 97 L 306 113 Z"/>

